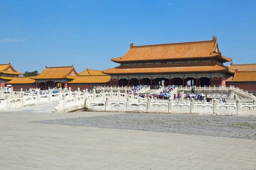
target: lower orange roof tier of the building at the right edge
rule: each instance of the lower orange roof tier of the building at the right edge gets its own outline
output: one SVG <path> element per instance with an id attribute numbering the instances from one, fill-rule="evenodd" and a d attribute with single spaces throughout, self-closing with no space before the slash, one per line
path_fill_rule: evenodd
<path id="1" fill-rule="evenodd" d="M 236 71 L 233 79 L 226 82 L 256 82 L 256 71 Z"/>

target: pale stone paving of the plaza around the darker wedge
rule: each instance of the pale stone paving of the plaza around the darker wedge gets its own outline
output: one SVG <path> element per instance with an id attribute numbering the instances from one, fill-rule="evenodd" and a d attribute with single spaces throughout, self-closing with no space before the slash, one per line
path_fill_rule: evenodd
<path id="1" fill-rule="evenodd" d="M 35 109 L 36 110 L 36 109 Z M 112 118 L 134 120 L 136 126 L 140 115 L 146 118 L 157 118 L 164 115 L 131 113 L 38 113 L 18 111 L 16 109 L 0 112 L 0 169 L 1 170 L 254 170 L 256 168 L 256 140 L 251 136 L 253 127 L 244 125 L 228 129 L 236 133 L 240 129 L 251 139 L 227 138 L 217 136 L 195 135 L 206 131 L 210 135 L 209 125 L 203 120 L 223 119 L 230 123 L 237 119 L 245 123 L 254 117 L 225 116 L 192 116 L 170 115 L 168 119 L 186 119 L 181 125 L 170 128 L 189 129 L 195 127 L 190 134 L 163 133 L 143 130 L 120 129 Z M 96 116 L 96 117 L 93 117 Z M 153 116 L 153 117 L 152 117 Z M 59 124 L 34 123 L 45 120 L 86 118 L 87 126 L 70 126 Z M 105 121 L 107 118 L 108 120 Z M 128 120 L 132 118 L 131 120 Z M 137 119 L 137 122 L 135 121 Z M 167 119 L 167 118 L 166 118 Z M 189 121 L 191 119 L 191 121 Z M 233 120 L 231 120 L 233 119 Z M 81 119 L 82 120 L 82 119 Z M 102 121 L 108 127 L 91 127 L 93 122 Z M 187 121 L 187 123 L 185 123 Z M 195 126 L 195 122 L 201 125 Z M 58 121 L 56 121 L 58 122 Z M 73 121 L 71 121 L 73 122 Z M 74 122 L 73 122 L 74 123 Z M 252 123 L 252 121 L 248 121 Z M 125 124 L 125 122 L 124 122 Z M 121 127 L 129 125 L 122 124 Z M 157 129 L 159 122 L 156 127 Z M 176 123 L 178 124 L 178 123 Z M 95 126 L 95 125 L 94 125 Z M 112 127 L 113 126 L 113 127 Z M 142 125 L 138 124 L 138 127 Z M 117 128 L 118 127 L 118 128 Z M 163 127 L 159 126 L 159 128 Z M 232 130 L 232 128 L 235 130 Z M 117 129 L 115 129 L 117 128 Z M 214 127 L 211 127 L 215 130 Z M 225 129 L 218 125 L 217 129 Z M 204 130 L 203 130 L 204 129 Z M 148 129 L 150 130 L 150 129 Z M 254 129 L 255 130 L 255 129 Z M 256 131 L 256 130 L 255 130 Z M 172 131 L 171 131 L 172 132 Z M 227 133 L 224 133 L 227 135 Z M 244 135 L 243 135 L 244 136 Z M 245 135 L 246 136 L 246 135 Z M 236 136 L 237 137 L 237 136 Z"/>

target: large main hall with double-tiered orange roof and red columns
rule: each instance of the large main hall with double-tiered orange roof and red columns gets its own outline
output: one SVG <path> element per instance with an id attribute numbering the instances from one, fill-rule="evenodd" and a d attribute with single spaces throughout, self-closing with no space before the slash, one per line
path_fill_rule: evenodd
<path id="1" fill-rule="evenodd" d="M 120 65 L 102 71 L 110 85 L 225 85 L 235 70 L 223 65 L 232 61 L 221 54 L 217 37 L 209 41 L 134 46 L 113 62 Z"/>

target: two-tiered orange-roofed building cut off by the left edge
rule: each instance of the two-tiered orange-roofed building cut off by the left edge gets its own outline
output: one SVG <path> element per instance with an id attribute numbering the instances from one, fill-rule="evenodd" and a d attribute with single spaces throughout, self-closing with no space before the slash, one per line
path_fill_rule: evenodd
<path id="1" fill-rule="evenodd" d="M 0 65 L 0 87 L 5 87 L 5 83 L 13 79 L 13 77 L 18 77 L 23 73 L 17 72 L 9 62 L 9 64 Z"/>

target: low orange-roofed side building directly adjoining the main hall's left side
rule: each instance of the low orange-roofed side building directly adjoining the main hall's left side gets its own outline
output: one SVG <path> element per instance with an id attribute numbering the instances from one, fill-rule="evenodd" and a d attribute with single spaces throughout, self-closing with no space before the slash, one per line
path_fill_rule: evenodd
<path id="1" fill-rule="evenodd" d="M 86 69 L 85 71 L 78 74 L 78 76 L 68 82 L 68 86 L 71 89 L 80 88 L 92 90 L 95 86 L 109 86 L 110 76 L 103 74 L 102 71 Z"/>

